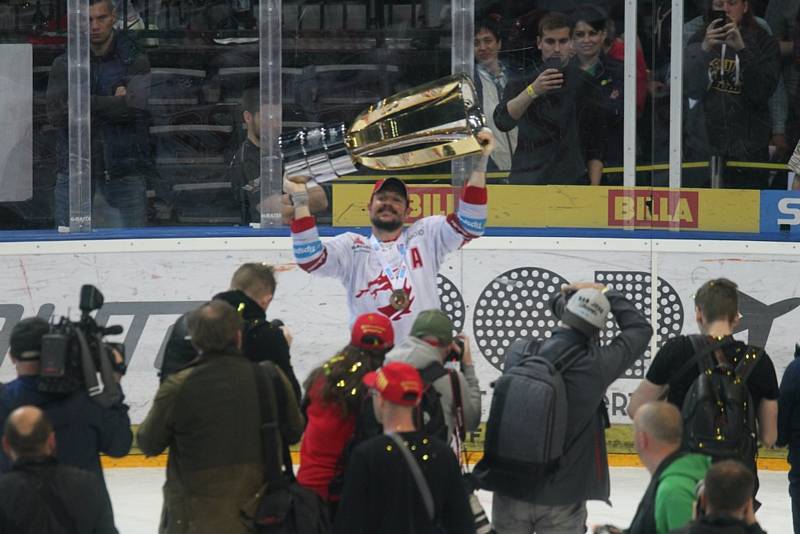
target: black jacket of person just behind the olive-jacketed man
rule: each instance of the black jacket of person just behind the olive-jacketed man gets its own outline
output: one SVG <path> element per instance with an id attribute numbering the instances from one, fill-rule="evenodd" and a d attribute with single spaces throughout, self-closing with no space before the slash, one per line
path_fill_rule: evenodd
<path id="1" fill-rule="evenodd" d="M 234 289 L 214 295 L 214 299 L 224 300 L 239 310 L 242 319 L 247 322 L 247 332 L 242 340 L 242 353 L 254 362 L 271 361 L 283 371 L 292 384 L 297 402 L 302 392 L 300 383 L 292 368 L 289 344 L 283 331 L 267 321 L 267 313 L 256 301 Z"/>

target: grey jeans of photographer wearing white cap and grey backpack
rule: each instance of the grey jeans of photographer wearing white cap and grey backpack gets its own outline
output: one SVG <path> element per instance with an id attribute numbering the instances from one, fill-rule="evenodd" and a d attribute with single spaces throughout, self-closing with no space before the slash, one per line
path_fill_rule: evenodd
<path id="1" fill-rule="evenodd" d="M 497 534 L 583 534 L 586 532 L 586 502 L 549 506 L 495 493 L 492 525 Z"/>

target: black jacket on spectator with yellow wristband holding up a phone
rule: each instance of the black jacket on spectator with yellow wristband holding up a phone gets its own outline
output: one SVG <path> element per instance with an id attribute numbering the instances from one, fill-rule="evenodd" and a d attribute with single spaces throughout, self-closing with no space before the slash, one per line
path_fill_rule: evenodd
<path id="1" fill-rule="evenodd" d="M 536 98 L 519 120 L 508 101 L 533 83 L 542 69 L 509 80 L 494 110 L 501 131 L 519 128 L 512 159 L 511 184 L 588 185 L 586 162 L 602 160 L 606 145 L 602 95 L 573 59 L 564 68 L 564 87 Z"/>

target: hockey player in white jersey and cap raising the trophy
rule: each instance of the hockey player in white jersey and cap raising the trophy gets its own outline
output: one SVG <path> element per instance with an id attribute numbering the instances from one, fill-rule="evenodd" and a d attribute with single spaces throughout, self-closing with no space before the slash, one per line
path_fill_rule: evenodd
<path id="1" fill-rule="evenodd" d="M 307 177 L 287 177 L 284 190 L 294 205 L 292 240 L 297 264 L 309 273 L 339 279 L 347 290 L 350 323 L 378 312 L 392 320 L 395 340 L 402 341 L 417 313 L 439 308 L 436 274 L 445 256 L 480 237 L 486 225 L 486 165 L 494 148 L 488 129 L 457 213 L 433 215 L 403 227 L 411 212 L 402 180 L 375 183 L 368 204 L 372 234 L 347 232 L 323 244 L 308 208 Z"/>

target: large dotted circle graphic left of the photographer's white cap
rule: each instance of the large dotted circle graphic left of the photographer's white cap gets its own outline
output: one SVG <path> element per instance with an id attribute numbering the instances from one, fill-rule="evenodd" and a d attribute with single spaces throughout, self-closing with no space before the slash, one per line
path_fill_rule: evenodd
<path id="1" fill-rule="evenodd" d="M 502 370 L 505 351 L 521 337 L 543 339 L 558 320 L 550 298 L 568 284 L 561 275 L 538 267 L 519 267 L 492 280 L 478 297 L 472 320 L 475 342 L 484 358 Z"/>

